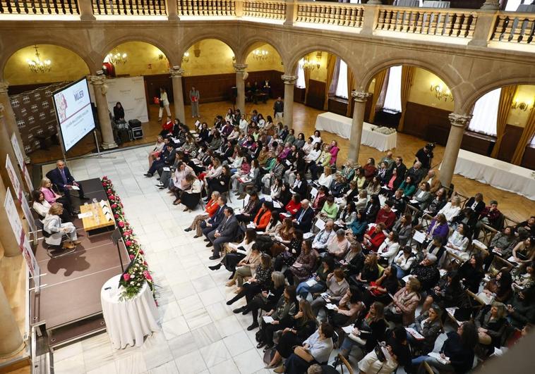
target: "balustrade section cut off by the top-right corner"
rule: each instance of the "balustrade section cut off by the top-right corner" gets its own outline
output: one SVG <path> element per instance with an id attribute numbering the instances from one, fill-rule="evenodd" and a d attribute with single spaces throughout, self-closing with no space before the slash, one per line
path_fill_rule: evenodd
<path id="1" fill-rule="evenodd" d="M 535 14 L 500 12 L 496 17 L 491 42 L 534 45 Z"/>

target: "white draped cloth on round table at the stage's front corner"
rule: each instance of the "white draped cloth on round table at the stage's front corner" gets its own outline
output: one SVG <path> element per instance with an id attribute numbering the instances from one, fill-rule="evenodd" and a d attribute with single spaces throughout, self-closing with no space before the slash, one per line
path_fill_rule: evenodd
<path id="1" fill-rule="evenodd" d="M 107 280 L 100 290 L 102 314 L 106 321 L 109 339 L 116 349 L 125 348 L 128 344 L 140 347 L 143 337 L 160 330 L 157 323 L 158 309 L 152 291 L 145 282 L 139 294 L 130 300 L 119 300 L 119 278 Z M 112 287 L 111 289 L 105 289 Z"/>

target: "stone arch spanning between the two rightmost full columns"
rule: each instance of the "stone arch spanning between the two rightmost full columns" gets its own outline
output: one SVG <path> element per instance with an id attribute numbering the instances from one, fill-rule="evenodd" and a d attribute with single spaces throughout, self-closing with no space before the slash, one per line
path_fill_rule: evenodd
<path id="1" fill-rule="evenodd" d="M 372 66 L 373 68 L 365 70 L 366 73 L 364 75 L 360 76 L 360 79 L 357 77 L 357 87 L 361 91 L 367 91 L 368 87 L 370 87 L 371 81 L 379 73 L 381 70 L 384 70 L 386 68 L 390 68 L 391 66 L 398 66 L 398 65 L 405 65 L 405 66 L 414 66 L 416 68 L 421 68 L 423 70 L 427 70 L 430 73 L 433 73 L 437 77 L 440 78 L 440 80 L 443 80 L 447 87 L 450 89 L 453 95 L 454 99 L 454 107 L 455 111 L 459 110 L 459 108 L 462 106 L 463 97 L 462 93 L 459 89 L 459 85 L 462 82 L 461 77 L 458 75 L 455 76 L 453 74 L 450 74 L 448 70 L 445 68 L 438 69 L 433 66 L 433 64 L 428 63 L 426 61 L 417 60 L 415 58 L 387 58 L 383 61 L 370 61 L 368 66 Z M 450 69 L 454 70 L 454 69 Z"/>

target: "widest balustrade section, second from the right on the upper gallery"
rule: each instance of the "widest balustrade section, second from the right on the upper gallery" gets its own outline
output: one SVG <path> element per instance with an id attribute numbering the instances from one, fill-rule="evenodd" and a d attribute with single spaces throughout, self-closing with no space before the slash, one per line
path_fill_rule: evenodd
<path id="1" fill-rule="evenodd" d="M 440 35 L 470 39 L 476 28 L 477 13 L 461 9 L 400 8 L 379 9 L 376 30 L 409 34 Z"/>

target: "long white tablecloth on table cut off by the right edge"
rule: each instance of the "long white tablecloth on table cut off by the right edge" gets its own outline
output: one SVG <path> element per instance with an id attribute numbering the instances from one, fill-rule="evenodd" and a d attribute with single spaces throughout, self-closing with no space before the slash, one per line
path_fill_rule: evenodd
<path id="1" fill-rule="evenodd" d="M 461 149 L 454 173 L 535 200 L 534 172 L 512 163 Z"/>

